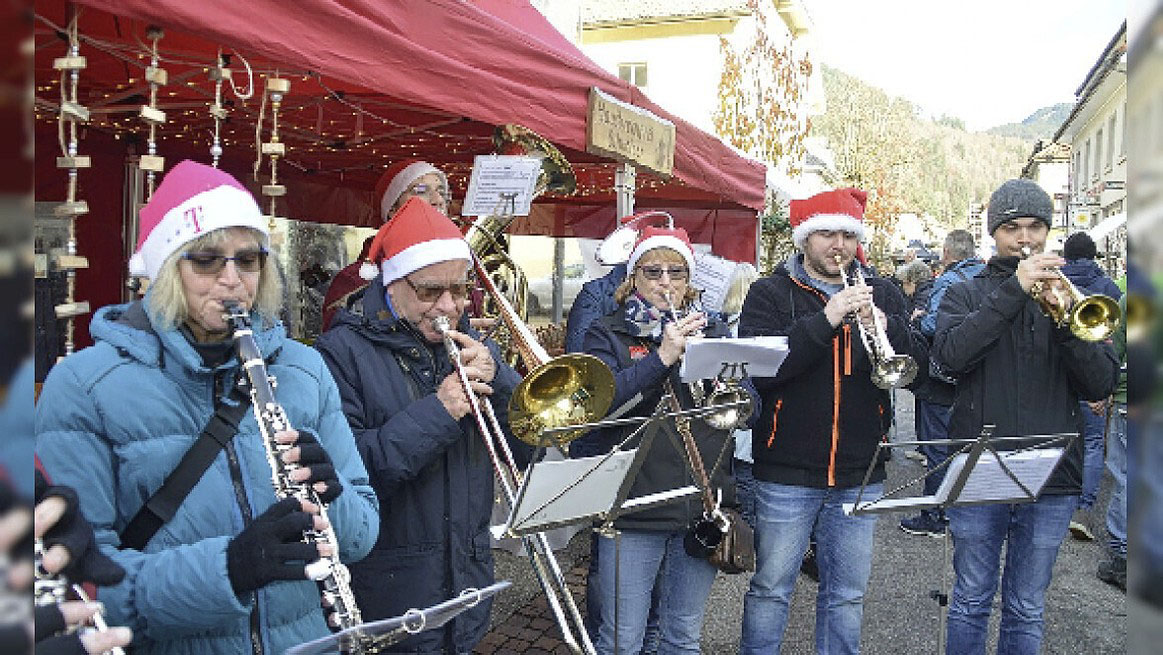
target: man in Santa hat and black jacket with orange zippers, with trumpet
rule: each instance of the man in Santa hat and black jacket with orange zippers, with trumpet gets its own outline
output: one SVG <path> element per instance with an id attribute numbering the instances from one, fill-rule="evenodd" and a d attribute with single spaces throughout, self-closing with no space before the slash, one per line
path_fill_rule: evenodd
<path id="1" fill-rule="evenodd" d="M 757 561 L 743 601 L 742 653 L 779 653 L 813 526 L 816 652 L 859 652 L 876 519 L 847 517 L 842 504 L 856 500 L 891 425 L 889 392 L 873 378 L 908 384 L 916 363 L 926 362 L 901 292 L 882 278 L 863 280 L 856 254 L 864 200 L 855 188 L 793 200 L 800 251 L 752 284 L 743 302 L 740 336 L 784 335 L 789 351 L 776 377 L 755 379 L 763 399 L 751 441 Z M 849 276 L 863 283 L 850 284 Z M 865 493 L 876 497 L 884 478 L 879 462 Z"/>

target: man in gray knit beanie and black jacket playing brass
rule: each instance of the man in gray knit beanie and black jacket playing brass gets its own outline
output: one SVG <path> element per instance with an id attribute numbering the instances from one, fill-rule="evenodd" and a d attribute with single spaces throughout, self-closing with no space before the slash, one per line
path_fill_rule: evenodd
<path id="1" fill-rule="evenodd" d="M 941 301 L 930 356 L 957 377 L 949 421 L 954 439 L 973 439 L 985 425 L 994 426 L 996 436 L 1080 434 L 1078 400 L 1101 400 L 1114 391 L 1114 349 L 1055 325 L 1030 297 L 1036 282 L 1051 284 L 1055 269 L 1065 263 L 1043 252 L 1053 208 L 1033 181 L 1003 184 L 987 213 L 997 255 L 985 270 L 950 286 Z M 999 450 L 1029 446 L 1020 440 L 994 444 Z M 1078 506 L 1082 465 L 1082 440 L 1076 439 L 1035 501 L 948 508 L 957 576 L 948 654 L 985 653 L 999 569 L 998 653 L 1040 652 L 1046 590 Z"/>

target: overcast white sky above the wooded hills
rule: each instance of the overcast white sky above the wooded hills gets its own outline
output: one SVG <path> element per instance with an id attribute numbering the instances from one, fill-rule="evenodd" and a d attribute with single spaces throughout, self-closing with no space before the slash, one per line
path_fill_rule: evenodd
<path id="1" fill-rule="evenodd" d="M 1120 0 L 805 0 L 816 62 L 969 129 L 1072 102 Z"/>

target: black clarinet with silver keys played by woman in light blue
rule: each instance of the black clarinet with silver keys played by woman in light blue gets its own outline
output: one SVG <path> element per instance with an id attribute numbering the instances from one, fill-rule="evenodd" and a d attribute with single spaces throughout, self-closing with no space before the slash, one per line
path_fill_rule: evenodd
<path id="1" fill-rule="evenodd" d="M 335 536 L 335 529 L 327 519 L 327 507 L 319 499 L 319 494 L 308 483 L 294 482 L 291 472 L 299 468 L 298 464 L 283 462 L 283 454 L 293 446 L 278 443 L 274 441 L 277 433 L 291 429 L 286 411 L 274 399 L 274 380 L 266 372 L 266 363 L 255 342 L 255 333 L 251 329 L 250 315 L 241 305 L 235 302 L 223 302 L 226 313 L 223 318 L 230 326 L 235 347 L 238 351 L 238 359 L 247 373 L 247 382 L 250 386 L 250 399 L 255 412 L 255 420 L 258 422 L 258 432 L 263 437 L 263 449 L 266 451 L 266 462 L 271 467 L 271 482 L 274 484 L 274 494 L 283 498 L 299 498 L 319 507 L 319 514 L 327 521 L 327 528 L 322 531 L 308 529 L 304 533 L 304 542 L 309 544 L 326 543 L 331 547 L 331 555 L 320 557 L 315 562 L 307 564 L 307 577 L 319 585 L 323 599 L 323 606 L 331 611 L 336 625 L 329 625 L 331 629 L 345 631 L 358 627 L 363 624 L 359 607 L 356 606 L 355 595 L 351 592 L 351 574 L 347 565 L 340 561 L 340 544 Z M 378 653 L 385 645 L 380 645 L 376 639 L 355 633 L 350 641 L 341 648 L 342 653 L 372 654 Z"/>

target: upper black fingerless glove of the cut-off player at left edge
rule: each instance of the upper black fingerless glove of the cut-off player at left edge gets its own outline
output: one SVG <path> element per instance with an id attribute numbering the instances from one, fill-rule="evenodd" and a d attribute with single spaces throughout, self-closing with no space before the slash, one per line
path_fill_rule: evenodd
<path id="1" fill-rule="evenodd" d="M 98 586 L 117 584 L 126 577 L 126 570 L 107 557 L 97 547 L 93 526 L 88 525 L 79 511 L 77 492 L 70 486 L 52 485 L 36 471 L 36 503 L 57 496 L 65 501 L 60 520 L 44 533 L 42 541 L 48 550 L 62 544 L 69 550 L 69 564 L 60 571 L 70 582 L 91 582 Z"/>

